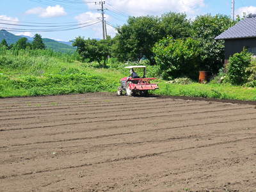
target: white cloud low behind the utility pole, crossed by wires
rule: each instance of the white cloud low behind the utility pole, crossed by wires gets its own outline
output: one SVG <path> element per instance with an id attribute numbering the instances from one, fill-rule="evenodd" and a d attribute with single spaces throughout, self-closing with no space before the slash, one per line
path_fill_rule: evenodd
<path id="1" fill-rule="evenodd" d="M 107 20 L 111 20 L 111 17 L 109 15 L 106 14 L 105 17 L 106 17 Z M 75 19 L 80 24 L 84 24 L 84 23 L 90 24 L 90 22 L 97 22 L 97 19 L 100 22 L 100 20 L 99 20 L 100 18 L 101 18 L 100 13 L 93 13 L 93 12 L 81 13 L 80 15 L 77 15 L 75 17 Z M 93 26 L 86 27 L 84 29 L 87 29 L 87 30 L 92 29 L 93 31 L 95 31 L 95 35 L 94 35 L 95 38 L 102 38 L 102 24 L 101 24 L 101 22 L 99 24 L 95 24 Z M 115 29 L 112 28 L 111 26 L 108 26 L 108 25 L 107 25 L 107 32 L 108 32 L 108 35 L 110 35 L 110 36 L 115 36 L 115 34 L 116 34 Z"/>

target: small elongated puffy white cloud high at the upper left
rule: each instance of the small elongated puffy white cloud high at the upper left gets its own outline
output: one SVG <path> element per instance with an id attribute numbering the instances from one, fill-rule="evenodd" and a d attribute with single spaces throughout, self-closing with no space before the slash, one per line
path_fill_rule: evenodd
<path id="1" fill-rule="evenodd" d="M 65 12 L 65 9 L 60 6 L 47 6 L 47 8 L 42 8 L 42 7 L 36 7 L 32 8 L 31 10 L 26 11 L 26 14 L 33 14 L 33 15 L 38 15 L 39 17 L 60 17 L 63 15 L 67 15 Z"/>

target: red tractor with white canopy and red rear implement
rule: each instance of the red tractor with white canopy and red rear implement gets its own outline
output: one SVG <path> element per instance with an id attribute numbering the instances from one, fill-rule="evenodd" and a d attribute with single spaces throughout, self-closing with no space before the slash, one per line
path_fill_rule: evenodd
<path id="1" fill-rule="evenodd" d="M 150 81 L 156 78 L 146 78 L 146 67 L 145 66 L 129 66 L 125 67 L 130 69 L 130 76 L 121 79 L 121 86 L 118 87 L 117 94 L 122 95 L 125 91 L 127 96 L 141 95 L 147 96 L 148 90 L 158 89 L 157 84 L 151 84 Z M 139 77 L 134 71 L 134 68 L 143 69 L 143 77 Z"/>

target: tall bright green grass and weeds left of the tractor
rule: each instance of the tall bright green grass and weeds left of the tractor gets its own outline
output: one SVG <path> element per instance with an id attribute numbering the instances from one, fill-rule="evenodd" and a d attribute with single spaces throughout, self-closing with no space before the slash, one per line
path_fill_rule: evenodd
<path id="1" fill-rule="evenodd" d="M 90 68 L 77 54 L 0 49 L 0 97 L 115 92 L 123 76 Z"/>

